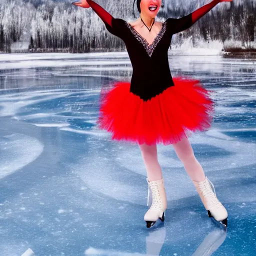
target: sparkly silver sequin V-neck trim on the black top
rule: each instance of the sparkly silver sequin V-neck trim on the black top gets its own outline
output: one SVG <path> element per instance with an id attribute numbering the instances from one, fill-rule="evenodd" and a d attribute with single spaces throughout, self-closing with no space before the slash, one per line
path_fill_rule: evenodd
<path id="1" fill-rule="evenodd" d="M 157 43 L 160 41 L 160 39 L 162 38 L 164 32 L 165 32 L 165 28 L 166 28 L 166 21 L 164 21 L 161 25 L 161 28 L 159 30 L 159 32 L 156 34 L 156 36 L 153 39 L 153 42 L 151 44 L 149 44 L 147 42 L 147 40 L 141 36 L 133 27 L 130 23 L 126 22 L 126 25 L 128 26 L 128 28 L 130 29 L 130 31 L 133 33 L 133 35 L 137 38 L 137 40 L 142 43 L 142 45 L 144 46 L 147 54 L 149 55 L 149 57 L 151 57 Z"/>

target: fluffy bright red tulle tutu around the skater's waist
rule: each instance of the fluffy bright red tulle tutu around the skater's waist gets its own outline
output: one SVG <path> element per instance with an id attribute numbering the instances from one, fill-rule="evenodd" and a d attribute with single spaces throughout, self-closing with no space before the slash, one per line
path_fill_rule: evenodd
<path id="1" fill-rule="evenodd" d="M 205 131 L 212 122 L 215 102 L 212 90 L 199 80 L 173 78 L 174 86 L 143 101 L 129 92 L 129 82 L 102 87 L 97 125 L 112 133 L 112 139 L 135 143 L 176 143 L 189 131 Z"/>

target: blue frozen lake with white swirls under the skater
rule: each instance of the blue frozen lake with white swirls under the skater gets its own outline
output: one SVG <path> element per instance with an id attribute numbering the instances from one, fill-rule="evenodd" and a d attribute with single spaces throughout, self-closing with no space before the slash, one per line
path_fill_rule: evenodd
<path id="1" fill-rule="evenodd" d="M 173 77 L 214 90 L 212 127 L 189 140 L 228 211 L 227 232 L 171 145 L 157 146 L 165 221 L 146 228 L 139 147 L 95 127 L 101 85 L 130 79 L 125 52 L 1 54 L 0 255 L 256 254 L 256 60 L 170 55 L 169 63 Z"/>

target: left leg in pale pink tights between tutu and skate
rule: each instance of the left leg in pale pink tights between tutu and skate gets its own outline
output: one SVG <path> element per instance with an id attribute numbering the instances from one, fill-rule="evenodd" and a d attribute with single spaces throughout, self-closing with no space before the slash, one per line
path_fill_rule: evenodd
<path id="1" fill-rule="evenodd" d="M 138 144 L 146 167 L 148 181 L 162 178 L 162 170 L 157 159 L 156 144 Z"/>

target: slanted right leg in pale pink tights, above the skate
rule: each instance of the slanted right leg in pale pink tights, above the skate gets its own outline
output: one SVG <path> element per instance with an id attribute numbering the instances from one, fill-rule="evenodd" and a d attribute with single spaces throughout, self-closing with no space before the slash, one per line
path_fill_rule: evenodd
<path id="1" fill-rule="evenodd" d="M 202 181 L 205 179 L 205 174 L 202 166 L 194 156 L 193 149 L 189 140 L 184 137 L 179 142 L 172 144 L 178 158 L 184 164 L 184 168 L 192 180 Z"/>

